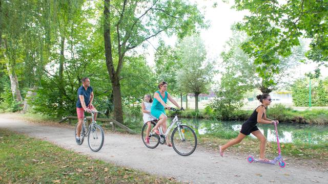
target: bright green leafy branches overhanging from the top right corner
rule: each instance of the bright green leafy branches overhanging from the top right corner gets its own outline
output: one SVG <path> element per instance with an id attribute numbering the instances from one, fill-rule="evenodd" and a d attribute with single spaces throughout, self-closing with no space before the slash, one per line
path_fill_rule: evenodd
<path id="1" fill-rule="evenodd" d="M 234 8 L 247 10 L 250 15 L 238 24 L 250 39 L 242 49 L 254 57 L 257 70 L 271 68 L 273 73 L 261 73 L 261 77 L 280 72 L 276 65 L 278 56 L 292 54 L 292 48 L 300 45 L 299 38 L 311 39 L 309 59 L 322 62 L 328 60 L 328 1 L 258 1 L 235 0 Z M 272 81 L 267 81 L 270 85 Z"/>

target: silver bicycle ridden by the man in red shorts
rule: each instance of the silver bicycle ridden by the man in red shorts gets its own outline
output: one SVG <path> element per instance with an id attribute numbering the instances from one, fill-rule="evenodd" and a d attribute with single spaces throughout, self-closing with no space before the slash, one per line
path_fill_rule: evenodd
<path id="1" fill-rule="evenodd" d="M 83 124 L 82 124 L 82 130 L 80 133 L 81 141 L 77 144 L 78 145 L 83 144 L 84 137 L 87 136 L 89 148 L 92 151 L 97 152 L 104 145 L 104 130 L 99 125 L 97 125 L 96 121 L 94 120 L 95 113 L 104 113 L 104 112 L 91 111 L 92 122 L 90 123 L 88 129 L 86 129 L 87 118 L 84 117 Z M 76 132 L 77 132 L 77 125 L 78 125 L 78 123 L 76 123 L 76 125 L 75 125 L 74 136 L 76 135 Z"/>

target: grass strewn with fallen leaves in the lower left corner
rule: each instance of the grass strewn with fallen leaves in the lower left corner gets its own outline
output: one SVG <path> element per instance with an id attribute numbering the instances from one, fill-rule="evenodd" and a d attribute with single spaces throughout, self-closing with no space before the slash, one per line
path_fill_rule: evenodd
<path id="1" fill-rule="evenodd" d="M 177 183 L 0 129 L 0 183 Z"/>

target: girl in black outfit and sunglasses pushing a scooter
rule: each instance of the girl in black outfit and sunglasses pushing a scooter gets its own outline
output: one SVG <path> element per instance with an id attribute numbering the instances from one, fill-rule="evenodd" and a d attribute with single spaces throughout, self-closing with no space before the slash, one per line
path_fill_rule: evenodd
<path id="1" fill-rule="evenodd" d="M 247 135 L 252 133 L 260 141 L 259 160 L 261 162 L 270 162 L 269 159 L 264 157 L 265 144 L 267 143 L 267 139 L 265 139 L 264 135 L 257 128 L 256 124 L 257 123 L 274 124 L 275 122 L 278 124 L 279 121 L 278 120 L 270 120 L 267 118 L 267 114 L 266 114 L 267 107 L 271 104 L 270 95 L 262 94 L 262 95 L 258 95 L 256 98 L 261 102 L 261 105 L 258 106 L 253 111 L 251 117 L 242 124 L 240 133 L 238 134 L 236 139 L 229 141 L 227 144 L 225 144 L 223 146 L 219 146 L 219 151 L 220 151 L 221 156 L 224 155 L 224 153 L 223 153 L 224 150 L 226 150 L 230 146 L 240 143 Z"/>

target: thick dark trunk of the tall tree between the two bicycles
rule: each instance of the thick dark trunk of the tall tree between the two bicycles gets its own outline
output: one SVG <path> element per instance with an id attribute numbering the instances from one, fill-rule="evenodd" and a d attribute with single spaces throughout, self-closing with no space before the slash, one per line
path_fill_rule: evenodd
<path id="1" fill-rule="evenodd" d="M 115 120 L 119 123 L 124 123 L 121 90 L 119 84 L 118 72 L 115 71 L 113 56 L 112 56 L 112 44 L 111 44 L 111 30 L 110 30 L 110 0 L 104 1 L 104 42 L 105 42 L 105 58 L 109 78 L 112 82 L 113 97 L 114 97 L 114 116 Z M 119 47 L 119 46 L 118 46 Z M 119 56 L 119 63 L 122 62 L 122 56 Z M 119 70 L 118 70 L 119 71 Z"/>

